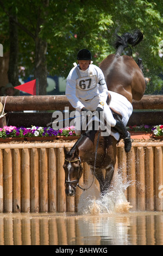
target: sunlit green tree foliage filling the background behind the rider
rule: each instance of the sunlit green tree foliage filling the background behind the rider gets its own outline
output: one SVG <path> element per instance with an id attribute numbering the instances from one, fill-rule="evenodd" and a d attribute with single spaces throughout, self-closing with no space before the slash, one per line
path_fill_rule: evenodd
<path id="1" fill-rule="evenodd" d="M 47 3 L 47 4 L 46 4 Z M 162 0 L 29 0 L 23 2 L 0 1 L 1 43 L 8 51 L 8 14 L 17 15 L 20 66 L 25 74 L 34 74 L 35 47 L 38 38 L 48 43 L 47 69 L 50 75 L 66 77 L 76 61 L 81 48 L 89 48 L 93 63 L 99 64 L 108 54 L 115 53 L 112 46 L 114 33 L 132 32 L 139 28 L 145 35 L 143 41 L 133 49 L 134 55 L 143 60 L 144 74 L 151 77 L 153 89 L 161 88 L 155 77 L 162 72 Z M 26 28 L 26 29 L 24 29 Z M 6 40 L 4 40 L 6 39 Z"/>

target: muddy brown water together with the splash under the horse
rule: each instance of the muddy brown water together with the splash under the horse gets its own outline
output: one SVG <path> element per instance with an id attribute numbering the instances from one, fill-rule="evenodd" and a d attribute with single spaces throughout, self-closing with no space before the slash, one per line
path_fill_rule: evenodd
<path id="1" fill-rule="evenodd" d="M 0 245 L 163 245 L 163 212 L 134 212 L 116 182 L 103 197 L 84 191 L 76 214 L 0 214 Z"/>

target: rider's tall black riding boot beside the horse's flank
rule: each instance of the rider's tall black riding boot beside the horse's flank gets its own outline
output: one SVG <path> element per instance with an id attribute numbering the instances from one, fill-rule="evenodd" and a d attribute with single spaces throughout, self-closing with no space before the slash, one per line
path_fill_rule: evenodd
<path id="1" fill-rule="evenodd" d="M 114 127 L 118 132 L 121 133 L 124 139 L 124 149 L 128 153 L 131 149 L 132 139 L 130 138 L 130 133 L 127 131 L 126 127 L 123 125 L 122 121 L 116 120 L 116 125 Z"/>

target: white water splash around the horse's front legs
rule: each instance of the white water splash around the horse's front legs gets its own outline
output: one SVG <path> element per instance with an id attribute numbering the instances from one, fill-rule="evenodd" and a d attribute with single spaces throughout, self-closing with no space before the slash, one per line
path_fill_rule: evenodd
<path id="1" fill-rule="evenodd" d="M 84 191 L 79 199 L 78 213 L 99 215 L 103 213 L 127 213 L 133 207 L 127 201 L 125 191 L 131 185 L 124 183 L 122 176 L 117 175 L 116 183 L 101 196 L 96 185 Z"/>

